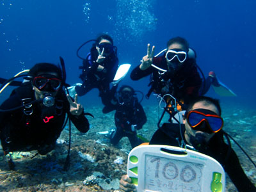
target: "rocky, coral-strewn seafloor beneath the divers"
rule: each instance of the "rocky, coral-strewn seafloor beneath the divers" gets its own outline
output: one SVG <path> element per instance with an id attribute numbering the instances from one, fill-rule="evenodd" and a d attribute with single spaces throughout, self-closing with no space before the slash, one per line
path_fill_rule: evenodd
<path id="1" fill-rule="evenodd" d="M 157 129 L 159 109 L 156 106 L 143 107 L 148 121 L 138 134 L 149 139 Z M 15 154 L 17 157 L 14 160 L 14 171 L 9 169 L 6 159 L 2 159 L 0 191 L 118 191 L 118 180 L 126 173 L 127 154 L 131 147 L 127 138 L 123 138 L 114 147 L 107 137 L 97 134 L 115 125 L 114 112 L 104 115 L 101 109 L 101 106 L 94 106 L 86 110 L 95 116 L 95 118 L 88 116 L 90 131 L 86 134 L 81 134 L 72 127 L 68 172 L 63 172 L 68 148 L 68 127 L 66 126 L 59 138 L 65 143 L 57 144 L 55 150 L 46 156 L 38 155 L 31 159 L 35 152 Z M 239 108 L 232 104 L 222 105 L 222 109 L 225 131 L 235 138 L 256 162 L 256 110 L 243 108 L 243 106 Z M 236 150 L 246 174 L 256 185 L 256 169 L 234 142 L 232 147 Z M 90 159 L 90 157 L 93 158 Z M 118 157 L 124 159 L 122 164 L 114 163 Z M 91 162 L 93 159 L 94 162 Z M 91 175 L 95 175 L 95 178 L 88 179 Z M 86 178 L 87 182 L 84 181 Z M 226 191 L 236 191 L 228 177 Z"/>

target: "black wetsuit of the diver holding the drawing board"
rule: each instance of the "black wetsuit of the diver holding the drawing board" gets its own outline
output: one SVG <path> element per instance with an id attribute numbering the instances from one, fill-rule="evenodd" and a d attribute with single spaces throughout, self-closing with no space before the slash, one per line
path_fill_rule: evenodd
<path id="1" fill-rule="evenodd" d="M 185 127 L 183 124 L 181 126 L 184 138 Z M 150 145 L 171 145 L 180 147 L 180 143 L 181 136 L 179 124 L 164 124 L 154 133 L 150 140 Z M 207 146 L 195 148 L 198 152 L 216 159 L 223 166 L 225 172 L 228 173 L 228 176 L 239 192 L 256 191 L 255 186 L 253 186 L 252 182 L 246 177 L 236 152 L 234 152 L 234 150 L 223 140 L 223 131 L 217 132 L 211 138 Z"/>

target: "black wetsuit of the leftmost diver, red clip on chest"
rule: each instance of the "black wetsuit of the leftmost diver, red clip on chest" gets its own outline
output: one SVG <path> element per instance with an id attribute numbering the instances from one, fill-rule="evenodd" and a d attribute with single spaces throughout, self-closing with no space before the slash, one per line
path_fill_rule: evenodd
<path id="1" fill-rule="evenodd" d="M 47 154 L 54 148 L 64 128 L 66 114 L 79 131 L 89 130 L 89 123 L 84 114 L 80 116 L 70 114 L 70 104 L 64 90 L 59 90 L 55 98 L 56 104 L 52 107 L 45 107 L 42 102 L 35 102 L 26 108 L 0 113 L 0 138 L 4 151 L 38 150 L 40 154 Z M 31 84 L 13 90 L 10 97 L 1 104 L 0 109 L 22 106 L 22 100 L 25 104 L 35 100 L 35 92 Z"/>

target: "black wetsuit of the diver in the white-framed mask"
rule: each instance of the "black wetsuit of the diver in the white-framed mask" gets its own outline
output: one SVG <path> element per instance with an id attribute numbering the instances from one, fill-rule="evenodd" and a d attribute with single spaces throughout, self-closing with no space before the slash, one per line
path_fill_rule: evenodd
<path id="1" fill-rule="evenodd" d="M 153 64 L 167 70 L 167 62 L 164 56 L 153 58 Z M 155 92 L 162 97 L 168 93 L 177 100 L 183 100 L 185 103 L 188 103 L 189 99 L 200 95 L 202 79 L 197 71 L 195 60 L 187 59 L 181 65 L 182 67 L 177 72 L 164 72 L 164 74 L 159 74 L 163 72 L 152 66 L 146 70 L 141 70 L 139 65 L 132 70 L 131 79 L 138 80 L 152 74 L 152 88 L 148 92 L 148 97 L 151 92 Z"/>

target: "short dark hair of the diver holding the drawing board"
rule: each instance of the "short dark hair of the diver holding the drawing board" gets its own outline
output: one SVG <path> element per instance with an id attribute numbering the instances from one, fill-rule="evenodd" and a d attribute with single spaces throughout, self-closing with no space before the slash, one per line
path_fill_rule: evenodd
<path id="1" fill-rule="evenodd" d="M 210 104 L 214 105 L 218 109 L 219 115 L 221 116 L 220 100 L 206 96 L 195 97 L 193 100 L 189 102 L 188 111 L 191 111 L 196 102 L 205 102 L 205 106 L 209 106 Z"/>

